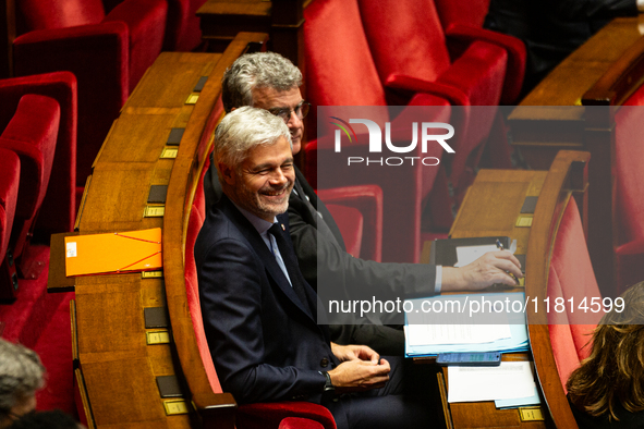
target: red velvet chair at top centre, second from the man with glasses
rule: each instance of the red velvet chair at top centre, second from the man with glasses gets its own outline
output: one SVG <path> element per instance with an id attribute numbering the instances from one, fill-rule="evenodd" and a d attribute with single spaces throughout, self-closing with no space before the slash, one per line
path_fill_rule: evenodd
<path id="1" fill-rule="evenodd" d="M 501 99 L 508 54 L 487 40 L 473 38 L 452 44 L 430 0 L 360 0 L 362 21 L 380 81 L 398 99 L 426 91 L 447 98 L 452 106 L 485 106 L 452 111 L 460 131 L 454 143 L 449 179 L 457 195 L 474 180 Z M 482 30 L 483 32 L 483 30 Z M 471 113 L 470 113 L 471 111 Z"/>

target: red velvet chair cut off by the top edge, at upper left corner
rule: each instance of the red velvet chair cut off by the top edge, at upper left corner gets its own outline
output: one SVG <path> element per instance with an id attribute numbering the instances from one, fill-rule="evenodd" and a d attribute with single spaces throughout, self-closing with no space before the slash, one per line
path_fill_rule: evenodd
<path id="1" fill-rule="evenodd" d="M 19 0 L 14 72 L 70 71 L 78 82 L 78 191 L 130 91 L 161 51 L 168 4 L 125 0 Z"/>

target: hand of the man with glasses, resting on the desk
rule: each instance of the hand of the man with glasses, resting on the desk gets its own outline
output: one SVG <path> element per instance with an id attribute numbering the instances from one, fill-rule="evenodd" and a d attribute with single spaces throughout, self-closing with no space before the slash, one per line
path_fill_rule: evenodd
<path id="1" fill-rule="evenodd" d="M 472 263 L 461 268 L 442 268 L 442 291 L 477 291 L 502 283 L 515 286 L 521 279 L 521 262 L 508 250 L 488 252 Z"/>

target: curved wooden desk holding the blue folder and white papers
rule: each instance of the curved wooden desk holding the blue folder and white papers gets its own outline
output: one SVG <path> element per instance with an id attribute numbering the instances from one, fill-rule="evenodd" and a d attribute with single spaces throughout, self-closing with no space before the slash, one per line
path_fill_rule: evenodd
<path id="1" fill-rule="evenodd" d="M 482 170 L 467 192 L 452 225 L 452 237 L 508 235 L 518 241 L 517 254 L 525 254 L 528 296 L 545 296 L 550 243 L 554 242 L 559 213 L 572 192 L 584 192 L 583 167 L 587 152 L 560 152 L 550 171 Z M 538 196 L 531 228 L 517 228 L 514 222 L 525 196 Z M 500 209 L 496 209 L 500 208 Z M 537 319 L 533 316 L 539 316 Z M 503 355 L 503 360 L 528 360 L 534 357 L 537 383 L 542 390 L 542 414 L 546 421 L 521 421 L 518 409 L 499 410 L 494 402 L 447 405 L 454 428 L 559 427 L 575 428 L 574 418 L 562 394 L 550 347 L 545 312 L 527 311 L 530 354 Z M 533 324 L 534 323 L 534 324 Z M 542 323 L 542 324 L 538 324 Z M 447 379 L 447 370 L 443 370 Z M 449 380 L 447 381 L 449 382 Z"/>

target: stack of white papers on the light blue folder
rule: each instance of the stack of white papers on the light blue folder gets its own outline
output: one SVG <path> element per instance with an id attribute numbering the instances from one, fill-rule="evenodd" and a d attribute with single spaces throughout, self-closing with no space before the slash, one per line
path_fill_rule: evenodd
<path id="1" fill-rule="evenodd" d="M 524 294 L 489 293 L 471 295 L 442 295 L 411 299 L 406 308 L 417 309 L 405 315 L 405 353 L 408 357 L 430 356 L 458 352 L 520 352 L 527 350 Z M 441 303 L 438 303 L 441 301 Z M 448 305 L 447 302 L 451 302 Z M 437 302 L 438 305 L 433 305 Z M 457 304 L 455 302 L 460 303 Z M 491 315 L 476 314 L 472 302 L 503 303 L 503 310 Z M 512 303 L 520 302 L 512 306 Z M 508 304 L 510 303 L 510 304 Z M 519 303 L 517 303 L 519 304 Z M 443 309 L 423 311 L 422 309 Z M 463 311 L 458 311 L 461 308 Z M 481 306 L 478 306 L 481 309 Z M 494 308 L 494 307 L 493 307 Z M 500 306 L 497 305 L 497 309 Z M 447 312 L 446 310 L 450 311 Z M 509 311 L 508 311 L 509 310 Z"/>

